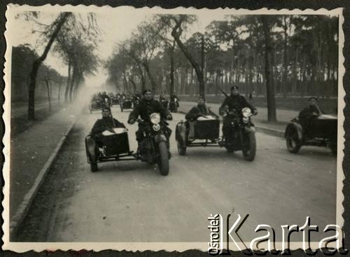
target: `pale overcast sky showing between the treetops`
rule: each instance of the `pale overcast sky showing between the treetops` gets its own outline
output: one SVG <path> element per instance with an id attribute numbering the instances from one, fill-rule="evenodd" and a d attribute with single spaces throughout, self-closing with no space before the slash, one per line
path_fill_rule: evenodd
<path id="1" fill-rule="evenodd" d="M 52 20 L 57 17 L 58 13 L 40 13 L 40 22 L 45 24 L 50 24 Z M 97 47 L 97 54 L 102 60 L 108 59 L 108 57 L 113 53 L 113 48 L 116 46 L 116 42 L 123 41 L 130 38 L 132 31 L 137 28 L 144 20 L 151 17 L 151 14 L 146 14 L 138 9 L 120 12 L 104 12 L 97 13 L 97 22 L 101 29 L 99 46 Z M 224 15 L 198 15 L 197 22 L 191 26 L 189 34 L 195 32 L 204 32 L 205 27 L 209 25 L 212 20 L 223 20 Z M 13 33 L 12 42 L 13 46 L 18 46 L 20 44 L 29 44 L 36 52 L 41 55 L 43 53 L 44 44 L 39 40 L 38 33 L 32 33 L 33 29 L 38 29 L 37 25 L 33 25 L 32 22 L 27 22 L 23 19 L 14 20 L 16 30 L 18 29 L 21 33 Z M 50 51 L 45 64 L 56 69 L 60 74 L 67 75 L 66 64 L 63 64 L 59 55 Z M 86 83 L 89 86 L 101 85 L 106 81 L 106 71 L 104 69 L 99 69 L 96 76 L 86 78 Z"/>

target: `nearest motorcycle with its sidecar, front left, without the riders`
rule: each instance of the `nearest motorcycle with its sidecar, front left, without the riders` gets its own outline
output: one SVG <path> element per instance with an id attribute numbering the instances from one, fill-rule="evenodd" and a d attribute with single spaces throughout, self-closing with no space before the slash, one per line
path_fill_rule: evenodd
<path id="1" fill-rule="evenodd" d="M 141 160 L 150 164 L 157 164 L 160 174 L 167 176 L 169 174 L 169 132 L 167 123 L 160 119 L 159 113 L 152 113 L 150 121 L 138 119 L 144 130 L 145 146 L 144 153 L 138 148 L 137 152 L 130 151 L 129 139 L 125 128 L 114 128 L 113 132 L 106 130 L 99 135 L 97 141 L 88 134 L 85 137 L 85 150 L 87 162 L 90 163 L 91 172 L 98 171 L 98 163 L 122 161 L 122 160 Z"/>

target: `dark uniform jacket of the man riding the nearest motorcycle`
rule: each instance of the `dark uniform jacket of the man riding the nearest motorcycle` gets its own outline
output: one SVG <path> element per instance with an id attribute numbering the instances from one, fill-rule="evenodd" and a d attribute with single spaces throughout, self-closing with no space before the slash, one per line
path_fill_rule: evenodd
<path id="1" fill-rule="evenodd" d="M 169 115 L 169 112 L 157 100 L 141 99 L 140 103 L 130 113 L 129 120 L 137 120 L 140 116 L 141 119 L 148 121 L 152 113 L 160 113 L 160 117 L 164 119 Z"/>

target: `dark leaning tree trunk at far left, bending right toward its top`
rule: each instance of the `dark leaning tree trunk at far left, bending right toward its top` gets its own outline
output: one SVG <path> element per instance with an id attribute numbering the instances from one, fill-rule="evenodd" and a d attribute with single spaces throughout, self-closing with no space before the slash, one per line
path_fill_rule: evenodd
<path id="1" fill-rule="evenodd" d="M 48 56 L 48 52 L 50 51 L 50 48 L 52 46 L 53 41 L 55 41 L 57 34 L 59 33 L 59 30 L 61 30 L 62 26 L 64 25 L 64 22 L 66 22 L 66 19 L 71 15 L 71 13 L 63 13 L 59 15 L 57 25 L 55 27 L 55 30 L 53 31 L 52 35 L 50 36 L 50 39 L 48 41 L 48 44 L 45 46 L 45 49 L 43 51 L 43 54 L 38 57 L 33 62 L 33 66 L 31 68 L 30 72 L 30 82 L 29 82 L 29 92 L 28 92 L 28 119 L 34 120 L 35 119 L 35 88 L 36 88 L 36 76 L 38 76 L 38 69 L 43 63 L 43 61 Z"/>

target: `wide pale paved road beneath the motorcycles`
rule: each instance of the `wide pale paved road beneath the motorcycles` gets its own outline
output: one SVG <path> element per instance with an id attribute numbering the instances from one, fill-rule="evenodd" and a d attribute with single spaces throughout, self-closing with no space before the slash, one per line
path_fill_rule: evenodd
<path id="1" fill-rule="evenodd" d="M 129 113 L 113 108 L 113 114 L 127 124 Z M 257 133 L 253 162 L 223 148 L 190 148 L 180 156 L 173 134 L 169 176 L 139 161 L 106 162 L 92 173 L 84 137 L 100 116 L 82 114 L 49 174 L 46 186 L 59 181 L 59 192 L 43 193 L 54 207 L 49 225 L 35 228 L 47 230 L 49 242 L 208 242 L 209 214 L 232 214 L 232 224 L 237 214 L 250 214 L 240 232 L 244 241 L 257 237 L 260 223 L 275 229 L 277 241 L 281 225 L 303 225 L 306 216 L 321 230 L 335 223 L 336 158 L 328 149 L 305 147 L 293 155 L 282 139 Z M 174 114 L 173 131 L 182 118 Z M 135 150 L 137 126 L 127 127 Z M 41 218 L 35 215 L 29 213 L 28 224 Z"/>

